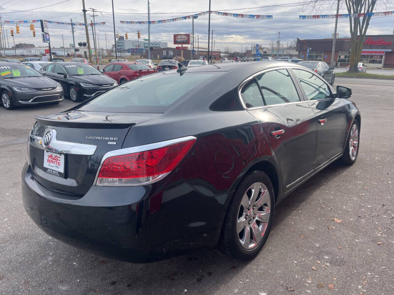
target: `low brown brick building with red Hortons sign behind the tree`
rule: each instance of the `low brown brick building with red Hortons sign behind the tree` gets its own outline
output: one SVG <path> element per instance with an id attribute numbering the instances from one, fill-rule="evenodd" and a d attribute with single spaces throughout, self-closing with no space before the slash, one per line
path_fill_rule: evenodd
<path id="1" fill-rule="evenodd" d="M 309 55 L 307 55 L 309 47 Z M 331 63 L 332 39 L 298 39 L 298 58 Z M 337 38 L 334 65 L 347 66 L 350 60 L 351 39 Z M 371 68 L 394 68 L 394 35 L 367 35 L 360 62 Z"/>

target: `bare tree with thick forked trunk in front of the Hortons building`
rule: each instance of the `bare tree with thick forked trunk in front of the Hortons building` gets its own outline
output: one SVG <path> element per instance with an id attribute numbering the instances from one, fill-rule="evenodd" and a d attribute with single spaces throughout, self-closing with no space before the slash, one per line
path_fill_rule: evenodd
<path id="1" fill-rule="evenodd" d="M 349 17 L 349 28 L 351 35 L 351 50 L 350 50 L 350 66 L 349 72 L 356 73 L 359 71 L 357 65 L 361 58 L 362 46 L 364 44 L 365 35 L 371 19 L 371 12 L 373 12 L 378 1 L 390 4 L 391 0 L 339 0 L 346 4 Z M 324 0 L 308 0 L 308 5 L 311 2 L 314 8 L 321 7 Z M 362 14 L 362 16 L 360 16 Z"/>

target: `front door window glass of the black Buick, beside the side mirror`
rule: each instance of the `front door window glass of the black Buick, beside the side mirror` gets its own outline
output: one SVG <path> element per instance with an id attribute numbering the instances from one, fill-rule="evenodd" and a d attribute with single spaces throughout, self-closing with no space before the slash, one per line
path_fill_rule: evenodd
<path id="1" fill-rule="evenodd" d="M 327 84 L 317 75 L 304 70 L 293 69 L 306 94 L 307 100 L 332 98 Z"/>

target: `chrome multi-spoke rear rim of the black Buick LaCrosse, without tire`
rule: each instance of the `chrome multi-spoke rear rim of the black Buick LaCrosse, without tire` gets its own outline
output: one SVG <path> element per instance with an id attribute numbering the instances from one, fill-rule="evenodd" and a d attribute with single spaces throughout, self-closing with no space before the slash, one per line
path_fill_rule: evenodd
<path id="1" fill-rule="evenodd" d="M 237 234 L 242 247 L 259 245 L 268 226 L 271 198 L 262 182 L 253 183 L 242 197 L 237 216 Z"/>

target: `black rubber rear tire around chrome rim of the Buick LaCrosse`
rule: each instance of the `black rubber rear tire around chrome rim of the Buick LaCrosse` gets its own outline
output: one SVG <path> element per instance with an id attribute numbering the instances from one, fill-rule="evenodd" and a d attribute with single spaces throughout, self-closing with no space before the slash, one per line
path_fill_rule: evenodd
<path id="1" fill-rule="evenodd" d="M 267 188 L 267 192 L 269 192 L 269 200 L 270 204 L 264 203 L 264 205 L 267 205 L 265 208 L 266 210 L 269 208 L 269 220 L 267 223 L 261 223 L 264 227 L 264 233 L 263 236 L 260 240 L 259 243 L 256 243 L 256 246 L 254 246 L 253 249 L 246 249 L 241 245 L 241 237 L 242 236 L 242 231 L 238 233 L 237 231 L 237 223 L 238 220 L 242 217 L 240 217 L 240 210 L 242 208 L 242 199 L 244 195 L 246 195 L 250 189 L 250 187 L 255 184 L 255 183 L 263 183 L 265 187 Z M 265 192 L 266 193 L 266 192 Z M 263 196 L 263 195 L 261 195 Z M 257 197 L 257 200 L 260 200 L 259 197 Z M 227 214 L 223 223 L 223 228 L 222 228 L 222 233 L 221 237 L 219 240 L 218 244 L 218 249 L 232 257 L 238 260 L 242 261 L 249 261 L 254 259 L 260 252 L 260 250 L 263 248 L 263 245 L 265 241 L 268 238 L 269 232 L 271 231 L 271 225 L 272 225 L 272 218 L 273 218 L 273 212 L 274 212 L 274 190 L 272 187 L 271 180 L 269 177 L 263 173 L 262 171 L 254 171 L 250 174 L 248 174 L 238 185 L 238 188 L 235 190 L 234 195 L 232 197 L 232 200 L 230 202 L 229 208 L 227 210 Z M 266 211 L 268 212 L 268 210 Z M 255 215 L 256 216 L 256 215 Z M 247 219 L 248 215 L 246 215 Z M 255 217 L 256 218 L 256 217 Z M 253 219 L 249 218 L 250 221 L 255 221 L 256 224 L 258 222 L 258 219 Z M 250 223 L 249 223 L 250 224 Z M 245 223 L 245 226 L 247 227 L 248 223 Z M 253 223 L 252 223 L 253 226 Z M 244 231 L 244 230 L 243 230 Z M 254 234 L 252 233 L 251 239 Z M 249 243 L 249 242 L 248 242 Z"/>

